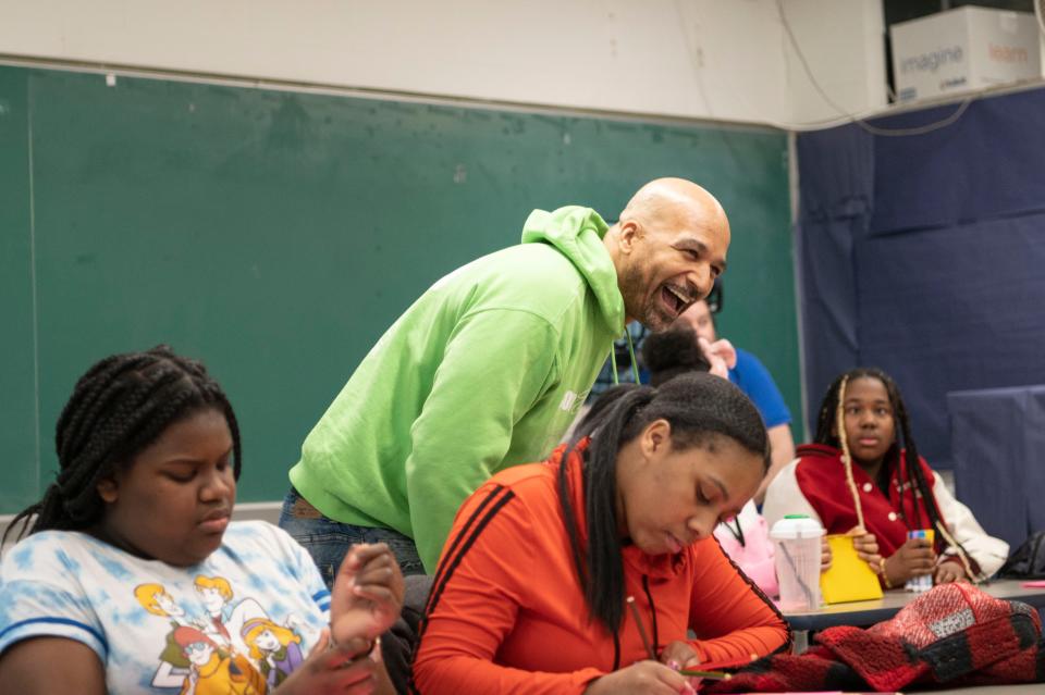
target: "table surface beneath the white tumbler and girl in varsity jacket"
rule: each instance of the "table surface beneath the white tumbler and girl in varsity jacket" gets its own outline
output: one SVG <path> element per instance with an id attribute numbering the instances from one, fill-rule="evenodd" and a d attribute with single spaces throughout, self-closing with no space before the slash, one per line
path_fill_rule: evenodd
<path id="1" fill-rule="evenodd" d="M 996 580 L 981 584 L 985 593 L 996 597 L 1021 600 L 1038 610 L 1045 608 L 1045 588 L 1024 588 L 1023 580 Z M 847 604 L 825 605 L 817 610 L 784 612 L 784 619 L 795 634 L 795 653 L 801 654 L 809 647 L 810 631 L 824 630 L 835 625 L 868 626 L 888 620 L 901 608 L 921 594 L 903 589 L 885 592 L 882 598 L 857 600 Z M 1045 686 L 1038 685 L 1038 688 Z M 1041 692 L 1041 690 L 1038 691 Z"/>

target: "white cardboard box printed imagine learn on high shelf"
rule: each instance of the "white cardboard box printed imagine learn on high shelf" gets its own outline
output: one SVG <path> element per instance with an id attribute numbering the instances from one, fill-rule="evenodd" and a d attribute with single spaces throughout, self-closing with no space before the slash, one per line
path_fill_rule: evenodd
<path id="1" fill-rule="evenodd" d="M 899 101 L 1042 76 L 1041 32 L 1028 12 L 963 7 L 889 27 Z"/>

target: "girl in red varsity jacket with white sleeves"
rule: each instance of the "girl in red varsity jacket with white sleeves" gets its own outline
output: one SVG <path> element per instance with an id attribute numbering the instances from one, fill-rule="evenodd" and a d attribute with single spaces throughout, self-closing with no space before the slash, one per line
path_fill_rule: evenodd
<path id="1" fill-rule="evenodd" d="M 979 581 L 1005 562 L 1008 545 L 988 536 L 918 456 L 900 390 L 885 372 L 861 368 L 835 380 L 815 444 L 797 454 L 770 483 L 766 521 L 804 513 L 827 533 L 853 534 L 886 587 L 923 575 L 936 584 Z M 919 529 L 933 530 L 934 539 L 908 538 Z"/>

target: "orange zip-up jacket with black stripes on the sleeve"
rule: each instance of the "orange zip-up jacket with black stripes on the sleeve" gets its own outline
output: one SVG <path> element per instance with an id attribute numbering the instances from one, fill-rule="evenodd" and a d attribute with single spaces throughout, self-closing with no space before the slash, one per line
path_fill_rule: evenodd
<path id="1" fill-rule="evenodd" d="M 458 510 L 421 623 L 415 693 L 582 693 L 593 679 L 648 658 L 630 611 L 619 647 L 589 619 L 556 493 L 561 454 L 497 473 Z M 583 548 L 577 451 L 568 473 Z M 629 545 L 623 559 L 625 595 L 635 597 L 657 651 L 688 641 L 687 629 L 704 662 L 762 657 L 789 643 L 784 619 L 713 537 L 676 555 Z"/>

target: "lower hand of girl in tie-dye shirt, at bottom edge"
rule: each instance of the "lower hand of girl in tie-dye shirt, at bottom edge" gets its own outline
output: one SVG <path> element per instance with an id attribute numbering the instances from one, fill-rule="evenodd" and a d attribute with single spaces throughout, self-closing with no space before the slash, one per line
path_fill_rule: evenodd
<path id="1" fill-rule="evenodd" d="M 370 695 L 386 682 L 384 666 L 367 658 L 370 642 L 362 637 L 331 647 L 323 631 L 308 658 L 280 684 L 280 695 Z"/>

